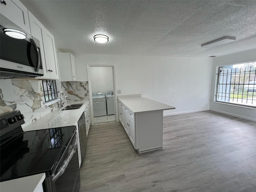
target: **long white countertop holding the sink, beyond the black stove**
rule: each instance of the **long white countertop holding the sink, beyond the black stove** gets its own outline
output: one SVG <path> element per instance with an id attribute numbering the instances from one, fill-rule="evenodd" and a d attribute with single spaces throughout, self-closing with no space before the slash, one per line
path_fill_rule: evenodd
<path id="1" fill-rule="evenodd" d="M 73 110 L 64 110 L 69 104 L 74 103 L 84 103 L 79 109 Z M 46 114 L 42 118 L 32 122 L 31 124 L 22 127 L 24 131 L 32 131 L 32 130 L 40 130 L 40 129 L 50 129 L 50 128 L 57 128 L 57 127 L 66 127 L 66 126 L 73 126 L 78 122 L 80 116 L 84 112 L 86 105 L 89 103 L 89 100 L 78 101 L 78 102 L 70 102 L 64 105 L 62 108 L 58 108 Z"/>

